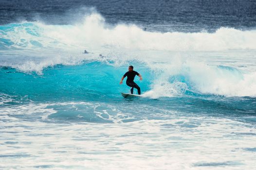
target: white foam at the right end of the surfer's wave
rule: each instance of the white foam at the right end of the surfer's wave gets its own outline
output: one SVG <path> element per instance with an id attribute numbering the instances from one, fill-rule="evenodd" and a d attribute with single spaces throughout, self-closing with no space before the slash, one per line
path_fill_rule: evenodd
<path id="1" fill-rule="evenodd" d="M 225 96 L 256 96 L 256 72 L 226 70 L 203 63 L 187 63 L 186 71 L 194 88 L 201 93 Z"/>

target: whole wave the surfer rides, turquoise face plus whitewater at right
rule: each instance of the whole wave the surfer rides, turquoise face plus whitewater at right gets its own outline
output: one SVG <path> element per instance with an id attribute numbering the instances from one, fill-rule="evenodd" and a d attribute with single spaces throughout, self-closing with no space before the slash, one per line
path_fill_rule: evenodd
<path id="1" fill-rule="evenodd" d="M 119 81 L 127 67 L 111 65 L 111 61 L 82 61 L 80 65 L 73 66 L 58 64 L 44 68 L 40 74 L 31 69 L 31 65 L 35 70 L 40 69 L 40 64 L 37 66 L 31 62 L 17 68 L 2 67 L 2 92 L 11 91 L 12 95 L 51 96 L 50 98 L 56 98 L 55 95 L 68 98 L 72 95 L 80 98 L 88 94 L 117 97 L 125 90 L 124 85 L 119 85 Z M 145 96 L 151 98 L 183 96 L 188 91 L 195 94 L 256 96 L 255 72 L 248 73 L 232 67 L 208 66 L 191 61 L 181 63 L 180 66 L 177 63 L 163 64 L 158 68 L 142 63 L 134 63 L 134 66 L 145 77 L 143 82 L 135 81 L 141 85 Z"/>

